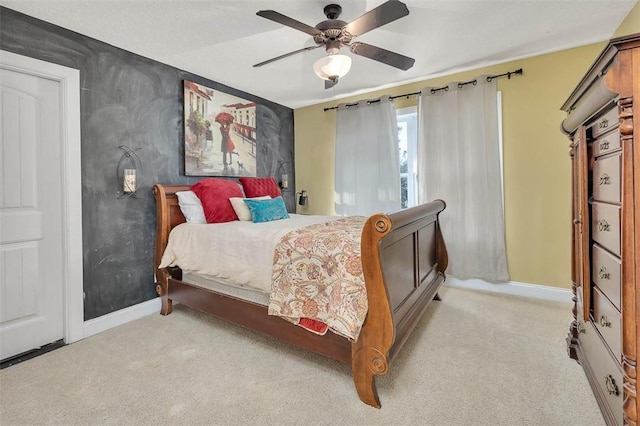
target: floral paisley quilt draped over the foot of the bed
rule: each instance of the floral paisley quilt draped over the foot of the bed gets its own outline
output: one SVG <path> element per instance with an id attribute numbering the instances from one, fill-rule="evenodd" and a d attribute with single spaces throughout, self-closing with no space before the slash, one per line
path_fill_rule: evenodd
<path id="1" fill-rule="evenodd" d="M 368 309 L 360 256 L 366 220 L 350 216 L 286 234 L 274 252 L 269 314 L 320 322 L 357 340 Z"/>

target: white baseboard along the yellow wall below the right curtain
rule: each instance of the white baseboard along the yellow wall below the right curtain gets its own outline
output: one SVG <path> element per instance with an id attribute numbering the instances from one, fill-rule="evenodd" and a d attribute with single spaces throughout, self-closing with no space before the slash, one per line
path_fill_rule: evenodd
<path id="1" fill-rule="evenodd" d="M 494 293 L 511 294 L 514 296 L 533 297 L 535 299 L 550 300 L 568 304 L 572 303 L 571 299 L 573 298 L 573 293 L 569 289 L 521 283 L 517 281 L 490 283 L 480 279 L 460 280 L 453 277 L 447 277 L 445 285 L 470 290 L 483 290 Z"/>

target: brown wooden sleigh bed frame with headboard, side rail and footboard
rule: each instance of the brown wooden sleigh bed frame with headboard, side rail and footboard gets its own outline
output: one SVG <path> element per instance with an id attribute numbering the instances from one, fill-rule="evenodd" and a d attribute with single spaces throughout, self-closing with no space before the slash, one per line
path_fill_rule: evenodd
<path id="1" fill-rule="evenodd" d="M 185 222 L 176 192 L 188 186 L 155 185 L 157 229 L 154 251 L 156 291 L 162 315 L 172 303 L 237 323 L 351 364 L 360 399 L 380 408 L 375 376 L 385 374 L 445 280 L 447 251 L 440 232 L 441 200 L 369 217 L 362 231 L 362 267 L 368 313 L 357 341 L 328 332 L 318 335 L 277 316 L 267 307 L 182 281 L 177 267 L 159 268 L 169 233 Z"/>

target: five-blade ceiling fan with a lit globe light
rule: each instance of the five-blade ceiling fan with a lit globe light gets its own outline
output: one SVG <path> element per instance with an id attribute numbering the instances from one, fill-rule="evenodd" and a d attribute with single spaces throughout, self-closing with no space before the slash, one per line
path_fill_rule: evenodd
<path id="1" fill-rule="evenodd" d="M 338 83 L 338 79 L 346 75 L 351 67 L 351 58 L 347 55 L 339 54 L 340 48 L 343 46 L 348 46 L 351 52 L 356 55 L 364 56 L 404 71 L 413 66 L 415 62 L 413 58 L 367 43 L 352 41 L 357 36 L 407 16 L 409 9 L 404 3 L 398 0 L 388 0 L 350 23 L 338 19 L 341 13 L 342 7 L 337 4 L 329 4 L 324 8 L 327 20 L 320 22 L 315 27 L 311 27 L 274 10 L 257 12 L 258 16 L 313 36 L 313 41 L 316 45 L 276 56 L 255 64 L 254 67 L 260 67 L 297 53 L 325 46 L 327 56 L 314 63 L 314 71 L 318 77 L 325 80 L 325 89 L 329 89 L 335 86 Z"/>

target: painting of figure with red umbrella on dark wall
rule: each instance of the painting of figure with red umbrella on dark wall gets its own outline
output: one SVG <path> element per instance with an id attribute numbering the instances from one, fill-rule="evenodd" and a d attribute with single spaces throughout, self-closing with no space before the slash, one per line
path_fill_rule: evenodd
<path id="1" fill-rule="evenodd" d="M 184 170 L 255 176 L 255 102 L 184 80 Z"/>

